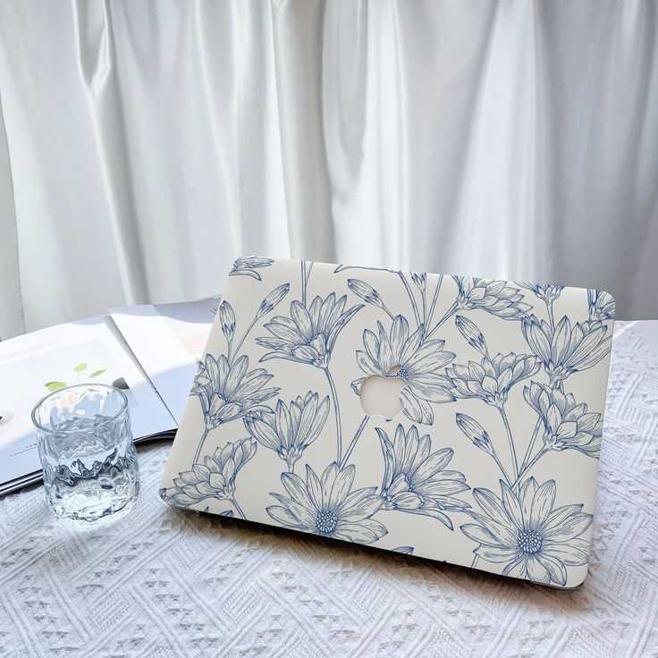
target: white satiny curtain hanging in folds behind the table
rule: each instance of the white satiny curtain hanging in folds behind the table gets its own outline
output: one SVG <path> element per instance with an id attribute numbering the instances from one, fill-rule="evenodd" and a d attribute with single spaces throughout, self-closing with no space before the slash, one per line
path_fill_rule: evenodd
<path id="1" fill-rule="evenodd" d="M 0 4 L 0 336 L 216 293 L 243 253 L 658 316 L 657 9 Z"/>

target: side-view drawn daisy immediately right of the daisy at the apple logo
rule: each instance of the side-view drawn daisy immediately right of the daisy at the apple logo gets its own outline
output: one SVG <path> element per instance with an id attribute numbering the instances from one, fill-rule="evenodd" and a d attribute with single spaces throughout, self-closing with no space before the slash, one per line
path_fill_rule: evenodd
<path id="1" fill-rule="evenodd" d="M 445 369 L 451 381 L 450 392 L 455 398 L 478 398 L 493 407 L 502 407 L 507 401 L 510 388 L 535 375 L 539 370 L 539 359 L 513 352 L 493 359 L 483 357 L 480 363 L 468 361 L 468 366 L 455 364 Z"/>

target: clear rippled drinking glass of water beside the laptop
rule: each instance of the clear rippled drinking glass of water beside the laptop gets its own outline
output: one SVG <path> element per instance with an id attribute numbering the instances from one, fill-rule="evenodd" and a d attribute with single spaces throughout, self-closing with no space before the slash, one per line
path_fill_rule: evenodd
<path id="1" fill-rule="evenodd" d="M 134 507 L 139 468 L 122 391 L 104 384 L 63 388 L 38 403 L 32 422 L 55 517 L 86 526 Z"/>

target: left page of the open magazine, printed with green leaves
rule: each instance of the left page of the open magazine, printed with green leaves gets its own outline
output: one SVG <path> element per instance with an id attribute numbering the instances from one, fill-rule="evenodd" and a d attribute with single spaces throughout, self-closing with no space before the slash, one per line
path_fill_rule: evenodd
<path id="1" fill-rule="evenodd" d="M 108 316 L 95 316 L 0 342 L 0 493 L 13 480 L 38 478 L 30 414 L 49 392 L 87 382 L 110 384 L 128 397 L 136 440 L 176 427 L 114 331 Z"/>

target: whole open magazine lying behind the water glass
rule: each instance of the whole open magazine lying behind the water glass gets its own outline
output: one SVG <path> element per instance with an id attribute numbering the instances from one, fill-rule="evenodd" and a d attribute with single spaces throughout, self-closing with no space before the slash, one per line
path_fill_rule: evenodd
<path id="1" fill-rule="evenodd" d="M 0 496 L 41 479 L 30 414 L 64 386 L 116 386 L 136 442 L 173 437 L 218 302 L 113 308 L 0 342 Z"/>

